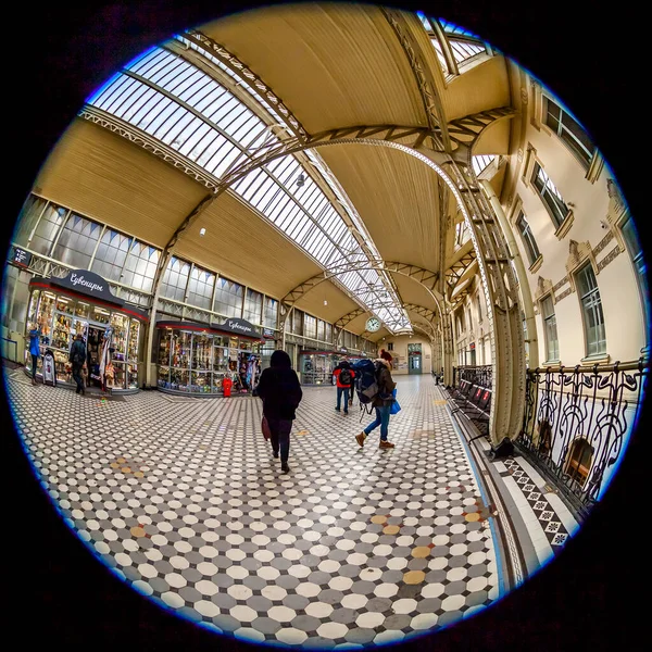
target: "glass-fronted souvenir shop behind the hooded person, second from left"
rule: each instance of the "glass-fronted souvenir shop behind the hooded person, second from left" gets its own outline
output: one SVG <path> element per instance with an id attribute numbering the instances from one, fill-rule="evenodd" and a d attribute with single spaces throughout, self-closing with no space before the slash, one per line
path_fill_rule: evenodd
<path id="1" fill-rule="evenodd" d="M 264 340 L 249 322 L 158 322 L 156 329 L 160 390 L 210 397 L 230 389 L 233 394 L 250 394 L 258 385 Z"/>

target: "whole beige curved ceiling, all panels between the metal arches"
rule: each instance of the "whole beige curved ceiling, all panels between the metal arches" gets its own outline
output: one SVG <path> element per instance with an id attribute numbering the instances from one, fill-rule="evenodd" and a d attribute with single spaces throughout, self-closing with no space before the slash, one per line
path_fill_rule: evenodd
<path id="1" fill-rule="evenodd" d="M 429 66 L 446 120 L 511 104 L 501 55 L 446 84 L 418 20 L 404 16 Z M 253 71 L 309 134 L 355 125 L 427 125 L 409 58 L 378 7 L 287 4 L 197 29 Z M 318 152 L 386 261 L 439 271 L 442 184 L 430 167 L 385 147 L 352 143 L 323 147 Z M 487 129 L 476 153 L 509 154 L 510 121 Z M 492 181 L 499 195 L 504 170 Z M 210 193 L 181 170 L 82 118 L 74 121 L 45 164 L 35 192 L 161 248 Z M 454 212 L 454 204 L 446 210 Z M 203 237 L 201 227 L 206 228 Z M 278 299 L 321 271 L 229 193 L 201 213 L 179 238 L 175 253 Z M 404 303 L 436 310 L 432 297 L 419 284 L 399 274 L 392 278 Z M 325 281 L 306 293 L 298 308 L 335 322 L 356 304 Z M 362 333 L 367 316 L 358 317 L 348 328 Z M 368 337 L 377 340 L 387 335 L 383 328 Z"/>

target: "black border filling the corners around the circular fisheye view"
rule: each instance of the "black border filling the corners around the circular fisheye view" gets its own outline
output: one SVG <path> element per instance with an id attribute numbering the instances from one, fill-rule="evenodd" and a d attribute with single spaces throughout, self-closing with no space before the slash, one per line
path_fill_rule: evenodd
<path id="1" fill-rule="evenodd" d="M 68 2 L 17 7 L 10 28 L 9 205 L 4 250 L 39 167 L 85 99 L 121 65 L 186 27 L 267 3 Z M 392 2 L 429 11 L 478 34 L 551 88 L 584 123 L 610 164 L 641 226 L 644 152 L 628 111 L 644 112 L 637 72 L 640 16 L 631 2 L 609 15 L 595 3 L 568 2 L 559 11 L 516 0 Z M 530 8 L 530 9 L 528 9 Z M 595 17 L 593 17 L 595 16 Z M 622 32 L 611 33 L 615 28 Z M 620 63 L 623 62 L 623 63 Z M 640 68 L 639 68 L 640 71 Z M 641 131 L 644 126 L 640 127 Z M 7 168 L 7 167 L 5 167 Z M 5 196 L 8 193 L 5 192 Z M 2 386 L 3 461 L 10 471 L 4 504 L 4 638 L 26 649 L 251 650 L 159 609 L 96 561 L 54 512 L 36 481 L 15 434 Z M 638 432 L 603 501 L 580 532 L 543 570 L 493 607 L 450 629 L 400 645 L 406 650 L 639 650 L 644 613 L 638 531 L 645 501 L 642 436 Z M 41 543 L 45 541 L 46 543 Z M 51 551 L 47 555 L 46 549 Z"/>

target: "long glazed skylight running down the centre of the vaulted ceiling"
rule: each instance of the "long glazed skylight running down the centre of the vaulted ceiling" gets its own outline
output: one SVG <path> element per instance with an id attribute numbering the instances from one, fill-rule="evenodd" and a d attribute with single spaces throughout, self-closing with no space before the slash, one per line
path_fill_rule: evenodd
<path id="1" fill-rule="evenodd" d="M 187 48 L 236 76 L 196 43 L 177 37 Z M 134 60 L 111 78 L 88 104 L 104 111 L 160 140 L 183 158 L 200 166 L 216 180 L 250 160 L 258 148 L 279 142 L 274 134 L 280 116 L 237 77 L 255 98 L 254 113 L 214 76 L 165 47 L 155 47 Z M 266 121 L 262 115 L 266 113 Z M 308 152 L 316 172 L 308 173 L 294 155 L 273 160 L 249 172 L 230 188 L 262 217 L 283 231 L 321 267 L 379 259 L 362 221 L 337 180 L 315 152 Z M 319 174 L 347 210 L 349 226 L 315 183 Z M 354 237 L 364 238 L 365 249 Z M 361 266 L 361 265 L 359 265 Z M 383 272 L 351 271 L 333 278 L 349 296 L 397 333 L 411 330 L 398 293 Z"/>

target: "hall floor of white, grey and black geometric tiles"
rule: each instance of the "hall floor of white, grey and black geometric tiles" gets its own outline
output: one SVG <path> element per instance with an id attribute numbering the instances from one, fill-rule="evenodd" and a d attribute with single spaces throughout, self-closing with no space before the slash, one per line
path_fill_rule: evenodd
<path id="1" fill-rule="evenodd" d="M 33 387 L 21 369 L 5 379 L 68 525 L 136 590 L 191 620 L 253 641 L 362 647 L 500 597 L 491 512 L 428 376 L 398 378 L 393 450 L 377 448 L 378 430 L 360 449 L 369 417 L 335 412 L 334 388 L 304 388 L 289 475 L 260 432 L 258 399 L 102 401 Z M 521 482 L 516 461 L 501 468 Z M 549 547 L 565 517 L 546 529 Z"/>

